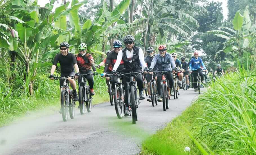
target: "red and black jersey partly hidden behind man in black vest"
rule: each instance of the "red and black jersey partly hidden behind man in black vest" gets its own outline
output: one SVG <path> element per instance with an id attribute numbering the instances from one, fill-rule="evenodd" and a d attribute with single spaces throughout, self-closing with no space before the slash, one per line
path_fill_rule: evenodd
<path id="1" fill-rule="evenodd" d="M 113 69 L 113 66 L 115 65 L 116 59 L 117 59 L 118 53 L 115 53 L 115 51 L 111 51 L 108 53 L 107 58 L 106 58 L 106 63 L 105 63 L 105 68 L 104 68 L 104 73 L 109 69 L 109 66 L 112 66 L 111 70 Z M 117 68 L 117 71 L 121 72 L 122 69 L 124 68 L 124 61 L 123 59 L 120 62 L 119 67 Z"/>

